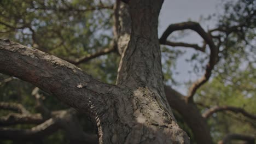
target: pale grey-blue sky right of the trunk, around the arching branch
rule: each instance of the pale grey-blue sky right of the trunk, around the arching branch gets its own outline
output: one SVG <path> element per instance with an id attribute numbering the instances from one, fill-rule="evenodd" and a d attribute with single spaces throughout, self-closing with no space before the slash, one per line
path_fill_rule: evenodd
<path id="1" fill-rule="evenodd" d="M 221 0 L 165 0 L 162 5 L 162 9 L 159 16 L 159 37 L 172 23 L 185 22 L 188 20 L 200 22 L 200 17 L 207 17 L 214 13 L 221 13 Z M 218 6 L 217 6 L 218 5 Z M 200 22 L 201 26 L 207 31 L 216 25 L 215 21 Z M 187 43 L 201 44 L 202 39 L 195 32 L 189 32 L 188 37 L 178 39 L 177 41 L 183 41 Z M 203 75 L 201 74 L 189 74 L 189 70 L 193 70 L 191 64 L 185 61 L 185 58 L 190 58 L 192 53 L 195 52 L 193 49 L 186 49 L 182 47 L 175 47 L 170 49 L 181 49 L 187 52 L 177 59 L 176 71 L 179 75 L 174 75 L 174 79 L 178 82 L 184 83 L 189 80 L 195 81 Z M 182 94 L 187 94 L 188 87 L 185 85 L 172 86 L 176 88 Z"/>

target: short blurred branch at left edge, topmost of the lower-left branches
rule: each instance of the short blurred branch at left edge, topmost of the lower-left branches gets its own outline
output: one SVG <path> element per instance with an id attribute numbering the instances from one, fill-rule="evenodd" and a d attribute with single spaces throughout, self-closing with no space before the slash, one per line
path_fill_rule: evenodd
<path id="1" fill-rule="evenodd" d="M 19 113 L 30 113 L 21 104 L 6 103 L 6 102 L 3 102 L 3 101 L 0 101 L 0 109 L 16 111 L 16 112 L 19 112 Z"/>

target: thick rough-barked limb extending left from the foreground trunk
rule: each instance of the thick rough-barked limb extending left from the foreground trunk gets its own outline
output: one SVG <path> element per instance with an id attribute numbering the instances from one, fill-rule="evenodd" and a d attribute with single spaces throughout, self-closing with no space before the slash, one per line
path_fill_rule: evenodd
<path id="1" fill-rule="evenodd" d="M 31 82 L 95 118 L 107 110 L 115 88 L 48 53 L 0 39 L 0 72 Z M 117 92 L 117 91 L 115 91 Z"/>

